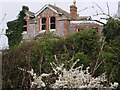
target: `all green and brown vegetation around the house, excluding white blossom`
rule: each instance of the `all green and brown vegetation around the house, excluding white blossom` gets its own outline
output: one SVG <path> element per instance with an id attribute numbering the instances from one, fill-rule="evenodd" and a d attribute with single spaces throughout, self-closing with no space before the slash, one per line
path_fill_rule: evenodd
<path id="1" fill-rule="evenodd" d="M 108 19 L 103 30 L 103 41 L 99 40 L 96 31 L 90 30 L 81 31 L 67 39 L 45 34 L 43 38 L 20 43 L 26 10 L 29 8 L 23 6 L 18 19 L 7 23 L 10 49 L 3 52 L 3 88 L 30 88 L 31 75 L 18 68 L 27 71 L 33 68 L 39 76 L 53 72 L 50 63 L 64 63 L 69 70 L 77 59 L 80 61 L 75 68 L 82 64 L 83 69 L 89 66 L 89 72 L 94 77 L 106 72 L 107 81 L 103 85 L 109 87 L 110 82 L 120 82 L 120 21 Z M 49 81 L 54 83 L 54 79 L 46 83 Z"/>

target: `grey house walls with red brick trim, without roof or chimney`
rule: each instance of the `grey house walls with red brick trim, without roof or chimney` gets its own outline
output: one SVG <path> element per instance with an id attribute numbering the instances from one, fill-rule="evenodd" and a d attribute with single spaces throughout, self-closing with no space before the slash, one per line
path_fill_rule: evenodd
<path id="1" fill-rule="evenodd" d="M 73 8 L 73 7 L 72 7 Z M 74 7 L 75 8 L 75 7 Z M 75 8 L 76 9 L 76 8 Z M 76 10 L 73 10 L 76 12 Z M 46 18 L 46 31 L 50 30 L 50 17 L 54 16 L 56 18 L 55 21 L 55 32 L 54 34 L 59 37 L 66 38 L 68 35 L 74 34 L 78 32 L 78 29 L 87 29 L 88 27 L 96 27 L 98 28 L 98 35 L 101 34 L 101 26 L 95 23 L 79 23 L 82 22 L 80 20 L 73 20 L 78 23 L 71 23 L 71 19 L 66 17 L 64 14 L 59 15 L 54 10 L 50 8 L 45 8 L 41 13 L 37 15 L 34 19 L 30 20 L 28 16 L 25 17 L 27 21 L 27 33 L 23 35 L 23 39 L 32 39 L 41 32 L 45 32 L 45 30 L 41 30 L 41 19 Z M 76 17 L 76 16 L 75 16 Z M 87 21 L 85 21 L 87 22 Z M 89 20 L 88 20 L 89 22 Z"/>

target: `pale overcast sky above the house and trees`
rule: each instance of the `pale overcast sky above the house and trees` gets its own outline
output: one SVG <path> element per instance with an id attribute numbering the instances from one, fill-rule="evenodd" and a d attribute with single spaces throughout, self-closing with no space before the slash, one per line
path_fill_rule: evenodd
<path id="1" fill-rule="evenodd" d="M 76 0 L 78 7 L 78 14 L 80 16 L 92 16 L 93 19 L 98 19 L 98 16 L 94 16 L 101 12 L 101 10 L 93 3 L 97 3 L 105 13 L 107 13 L 107 5 L 108 2 L 110 13 L 112 15 L 117 13 L 118 10 L 118 1 L 120 0 Z M 6 22 L 14 20 L 17 18 L 19 11 L 22 9 L 23 5 L 29 7 L 30 11 L 37 12 L 39 11 L 45 4 L 52 4 L 69 12 L 69 6 L 72 4 L 73 0 L 0 0 L 0 23 L 6 14 L 2 25 L 0 25 L 0 34 L 1 30 L 7 28 Z M 94 8 L 92 8 L 94 6 Z M 84 8 L 88 7 L 86 10 Z M 83 11 L 81 11 L 83 10 Z M 1 41 L 0 41 L 1 43 Z"/>

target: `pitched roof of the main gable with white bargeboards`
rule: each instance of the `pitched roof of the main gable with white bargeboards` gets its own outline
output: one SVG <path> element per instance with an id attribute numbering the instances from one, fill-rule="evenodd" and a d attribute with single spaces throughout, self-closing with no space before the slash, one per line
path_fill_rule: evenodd
<path id="1" fill-rule="evenodd" d="M 54 6 L 54 5 L 51 5 L 51 4 L 46 4 L 42 9 L 40 9 L 35 16 L 38 16 L 40 13 L 42 13 L 46 8 L 50 8 L 51 10 L 53 10 L 54 12 L 56 13 L 60 13 L 60 14 L 63 14 L 65 15 L 66 17 L 70 17 L 70 14 L 68 12 L 66 12 L 65 10 L 57 7 L 57 6 Z"/>

